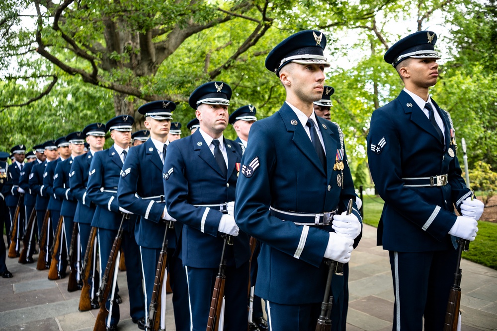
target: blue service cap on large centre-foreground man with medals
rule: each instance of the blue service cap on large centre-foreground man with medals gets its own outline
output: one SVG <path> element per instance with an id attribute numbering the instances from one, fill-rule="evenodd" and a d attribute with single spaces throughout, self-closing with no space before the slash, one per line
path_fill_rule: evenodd
<path id="1" fill-rule="evenodd" d="M 297 32 L 276 45 L 266 57 L 265 66 L 279 76 L 283 66 L 290 62 L 301 65 L 316 64 L 329 67 L 323 55 L 326 47 L 326 36 L 317 30 Z"/>

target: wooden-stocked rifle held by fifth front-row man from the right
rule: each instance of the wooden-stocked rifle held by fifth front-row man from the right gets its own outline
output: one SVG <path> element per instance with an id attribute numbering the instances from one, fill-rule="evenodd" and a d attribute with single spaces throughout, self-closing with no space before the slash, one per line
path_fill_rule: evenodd
<path id="1" fill-rule="evenodd" d="M 109 311 L 105 307 L 105 302 L 109 296 L 110 290 L 112 289 L 112 282 L 109 282 L 109 278 L 113 272 L 117 272 L 116 264 L 118 263 L 117 255 L 121 249 L 122 243 L 122 233 L 123 233 L 123 221 L 124 219 L 129 219 L 129 214 L 124 214 L 121 219 L 121 224 L 119 225 L 119 230 L 117 230 L 117 235 L 114 238 L 114 243 L 112 244 L 112 249 L 110 250 L 109 259 L 107 260 L 107 265 L 105 266 L 105 272 L 103 273 L 102 283 L 100 289 L 98 290 L 98 302 L 100 303 L 100 310 L 96 316 L 95 326 L 93 331 L 106 331 L 107 330 L 107 316 Z"/>

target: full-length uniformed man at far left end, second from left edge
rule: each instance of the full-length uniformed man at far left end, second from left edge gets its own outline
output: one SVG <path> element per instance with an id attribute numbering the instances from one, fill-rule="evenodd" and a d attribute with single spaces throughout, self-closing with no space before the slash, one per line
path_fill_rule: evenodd
<path id="1" fill-rule="evenodd" d="M 7 183 L 3 186 L 2 194 L 5 197 L 5 204 L 10 212 L 10 221 L 5 223 L 5 231 L 7 233 L 7 244 L 10 245 L 10 231 L 13 229 L 14 222 L 17 222 L 17 231 L 15 235 L 16 246 L 15 252 L 16 256 L 19 256 L 19 238 L 23 235 L 24 229 L 24 190 L 19 188 L 19 177 L 21 176 L 22 169 L 24 168 L 24 154 L 26 152 L 26 146 L 15 145 L 10 148 L 10 153 L 14 160 L 12 164 L 7 169 Z M 20 199 L 20 200 L 19 200 Z M 17 202 L 21 208 L 19 209 L 19 216 L 14 220 L 15 209 L 17 207 Z M 8 223 L 8 224 L 7 224 Z M 8 228 L 7 228 L 8 225 Z"/>

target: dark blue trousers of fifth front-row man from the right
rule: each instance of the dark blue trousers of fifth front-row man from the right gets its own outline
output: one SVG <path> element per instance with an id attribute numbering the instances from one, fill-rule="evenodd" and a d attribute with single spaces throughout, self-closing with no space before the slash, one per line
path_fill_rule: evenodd
<path id="1" fill-rule="evenodd" d="M 114 243 L 116 235 L 117 230 L 108 230 L 101 228 L 98 229 L 97 236 L 98 247 L 100 251 L 100 270 L 102 273 L 102 277 L 104 275 L 105 266 L 107 265 L 110 251 L 112 249 L 112 244 Z M 126 265 L 126 276 L 128 279 L 130 315 L 133 319 L 138 320 L 145 317 L 145 295 L 143 293 L 142 286 L 142 263 L 140 260 L 140 250 L 135 241 L 135 234 L 133 232 L 123 231 L 121 247 L 126 257 L 124 259 L 124 262 Z M 112 282 L 112 277 L 109 277 L 108 281 Z M 116 288 L 116 293 L 117 292 L 118 289 Z M 109 297 L 107 298 L 107 309 L 109 309 L 110 307 L 111 294 L 112 291 L 109 292 Z M 119 323 L 119 319 L 119 305 L 114 302 L 110 324 L 117 325 Z"/>

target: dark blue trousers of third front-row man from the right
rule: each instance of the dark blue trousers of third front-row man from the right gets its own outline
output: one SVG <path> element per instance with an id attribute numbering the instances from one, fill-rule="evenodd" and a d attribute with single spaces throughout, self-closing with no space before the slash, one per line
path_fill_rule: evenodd
<path id="1" fill-rule="evenodd" d="M 190 315 L 193 331 L 204 331 L 209 318 L 212 291 L 218 268 L 186 266 Z M 224 331 L 247 330 L 248 262 L 226 267 Z"/>

